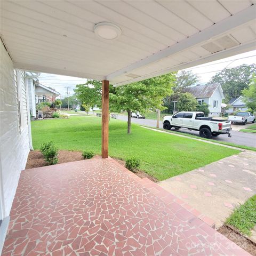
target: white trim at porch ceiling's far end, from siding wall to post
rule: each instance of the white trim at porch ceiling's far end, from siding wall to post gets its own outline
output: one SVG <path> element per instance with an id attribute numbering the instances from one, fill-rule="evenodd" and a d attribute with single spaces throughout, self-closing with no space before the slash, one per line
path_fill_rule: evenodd
<path id="1" fill-rule="evenodd" d="M 57 74 L 63 76 L 75 76 L 80 78 L 88 78 L 88 79 L 95 79 L 95 80 L 106 80 L 106 76 L 101 75 L 94 75 L 89 73 L 81 73 L 77 71 L 65 70 L 65 69 L 58 69 L 58 68 L 51 68 L 51 67 L 44 67 L 44 66 L 35 66 L 31 64 L 13 62 L 13 67 L 16 69 L 22 70 L 33 70 L 41 73 L 48 73 L 48 74 Z"/>

